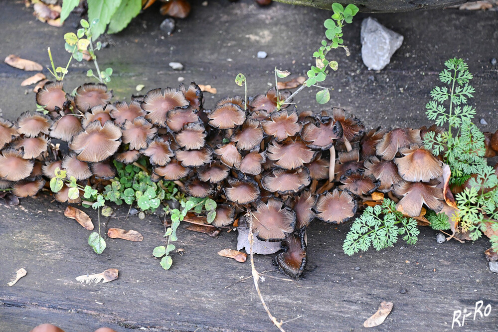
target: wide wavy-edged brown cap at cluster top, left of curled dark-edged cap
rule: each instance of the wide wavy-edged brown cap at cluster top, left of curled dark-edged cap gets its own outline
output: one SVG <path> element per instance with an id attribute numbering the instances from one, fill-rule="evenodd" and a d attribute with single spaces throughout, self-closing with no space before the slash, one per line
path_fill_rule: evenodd
<path id="1" fill-rule="evenodd" d="M 142 103 L 142 109 L 148 114 L 145 116 L 155 125 L 166 127 L 167 112 L 176 108 L 187 108 L 190 105 L 180 90 L 166 88 L 154 89 L 147 93 Z"/>

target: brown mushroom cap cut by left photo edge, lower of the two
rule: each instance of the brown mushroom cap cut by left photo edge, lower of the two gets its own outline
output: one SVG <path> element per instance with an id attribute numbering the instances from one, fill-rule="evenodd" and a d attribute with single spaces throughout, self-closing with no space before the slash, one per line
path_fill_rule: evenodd
<path id="1" fill-rule="evenodd" d="M 34 163 L 24 159 L 20 151 L 5 148 L 0 153 L 0 177 L 7 181 L 19 181 L 31 174 Z"/>

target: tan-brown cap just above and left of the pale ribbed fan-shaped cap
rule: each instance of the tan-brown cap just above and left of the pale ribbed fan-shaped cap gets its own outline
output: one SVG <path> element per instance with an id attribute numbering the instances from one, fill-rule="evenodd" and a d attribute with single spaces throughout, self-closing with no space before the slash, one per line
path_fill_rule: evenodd
<path id="1" fill-rule="evenodd" d="M 377 155 L 384 160 L 393 160 L 399 148 L 412 143 L 421 143 L 420 129 L 396 128 L 385 134 L 377 144 Z"/>

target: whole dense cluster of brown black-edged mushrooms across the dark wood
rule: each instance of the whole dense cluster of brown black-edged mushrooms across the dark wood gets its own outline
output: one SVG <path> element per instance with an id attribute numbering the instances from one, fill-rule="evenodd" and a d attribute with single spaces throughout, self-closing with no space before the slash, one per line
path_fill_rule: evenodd
<path id="1" fill-rule="evenodd" d="M 247 103 L 223 98 L 206 110 L 193 82 L 129 103 L 111 103 L 104 84 L 84 84 L 73 97 L 62 83 L 48 82 L 36 94 L 47 115 L 0 118 L 0 188 L 35 195 L 57 167 L 94 184 L 115 176 L 113 160 L 145 157 L 154 179 L 181 181 L 186 194 L 214 199 L 215 227 L 251 220 L 259 240 L 281 242 L 276 263 L 295 278 L 305 269 L 306 229 L 315 218 L 343 223 L 374 191 L 409 216 L 419 216 L 424 204 L 442 209 L 443 165 L 422 145 L 423 135 L 439 128 L 365 132 L 343 109 L 298 113 L 288 97 L 272 88 Z M 487 154 L 496 155 L 498 132 L 487 142 Z M 78 203 L 68 190 L 55 198 Z"/>

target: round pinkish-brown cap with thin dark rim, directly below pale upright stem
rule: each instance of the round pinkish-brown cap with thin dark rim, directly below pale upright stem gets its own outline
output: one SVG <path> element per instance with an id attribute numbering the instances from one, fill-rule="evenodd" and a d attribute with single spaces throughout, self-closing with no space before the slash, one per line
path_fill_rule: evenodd
<path id="1" fill-rule="evenodd" d="M 318 197 L 317 217 L 325 222 L 340 224 L 356 213 L 356 201 L 347 191 L 335 188 Z"/>

